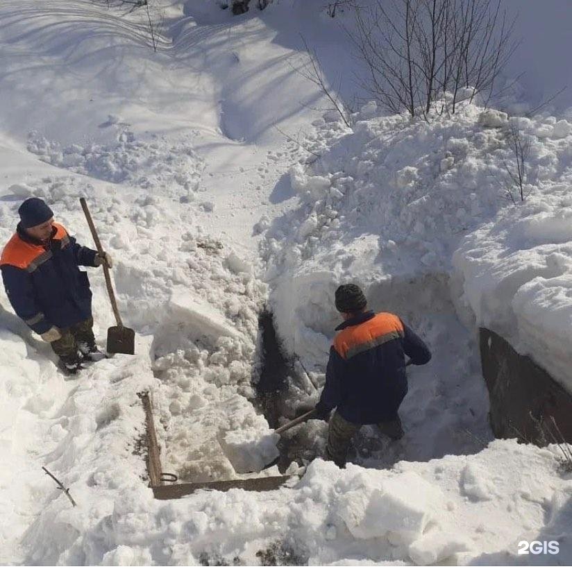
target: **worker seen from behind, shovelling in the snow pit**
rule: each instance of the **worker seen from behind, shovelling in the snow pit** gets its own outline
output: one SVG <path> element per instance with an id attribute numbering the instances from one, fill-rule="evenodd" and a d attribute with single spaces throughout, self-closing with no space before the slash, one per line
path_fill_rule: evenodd
<path id="1" fill-rule="evenodd" d="M 422 365 L 431 353 L 398 316 L 367 310 L 357 285 L 338 287 L 335 305 L 344 322 L 336 328 L 315 412 L 326 419 L 337 408 L 328 429 L 326 458 L 343 467 L 351 438 L 362 425 L 378 425 L 392 439 L 401 439 L 397 411 L 407 393 L 405 355 L 412 364 Z"/>

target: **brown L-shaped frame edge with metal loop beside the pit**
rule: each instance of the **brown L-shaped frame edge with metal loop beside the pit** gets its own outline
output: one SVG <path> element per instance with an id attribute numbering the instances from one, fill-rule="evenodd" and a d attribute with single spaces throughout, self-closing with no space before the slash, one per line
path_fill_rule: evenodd
<path id="1" fill-rule="evenodd" d="M 240 480 L 215 480 L 214 482 L 187 482 L 183 484 L 165 484 L 168 473 L 163 473 L 161 468 L 160 446 L 157 442 L 155 423 L 153 421 L 153 409 L 149 391 L 137 393 L 140 396 L 145 411 L 146 441 L 147 441 L 147 473 L 149 486 L 153 490 L 153 496 L 157 500 L 173 500 L 183 498 L 196 490 L 218 490 L 226 492 L 230 489 L 242 489 L 247 491 L 266 492 L 278 490 L 292 476 L 267 476 L 262 478 L 246 478 Z M 171 475 L 172 476 L 172 475 Z"/>

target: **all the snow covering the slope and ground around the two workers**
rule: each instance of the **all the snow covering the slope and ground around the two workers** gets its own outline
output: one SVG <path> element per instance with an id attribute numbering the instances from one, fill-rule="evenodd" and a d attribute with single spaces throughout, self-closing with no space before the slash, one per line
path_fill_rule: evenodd
<path id="1" fill-rule="evenodd" d="M 317 110 L 323 94 L 292 69 L 299 33 L 331 85 L 356 65 L 322 1 L 239 18 L 214 1 L 169 0 L 160 14 L 153 4 L 157 53 L 146 14 L 110 4 L 0 6 L 0 241 L 19 203 L 39 196 L 90 245 L 85 196 L 137 332 L 137 355 L 64 378 L 0 291 L 0 561 L 500 564 L 523 562 L 521 540 L 555 538 L 555 561 L 568 563 L 560 451 L 492 440 L 475 338 L 489 326 L 572 389 L 566 116 L 464 104 L 411 123 L 366 101 L 348 127 Z M 341 89 L 353 94 L 348 80 Z M 503 187 L 510 124 L 530 139 L 534 174 L 514 206 Z M 115 319 L 103 275 L 90 269 L 90 280 L 103 343 Z M 258 476 L 278 442 L 254 405 L 258 316 L 274 312 L 296 356 L 280 401 L 292 415 L 317 400 L 334 291 L 349 280 L 435 354 L 408 368 L 404 438 L 364 427 L 346 469 L 291 466 L 299 478 L 278 491 L 154 500 L 138 393 L 150 393 L 165 472 Z M 282 439 L 313 458 L 326 433 L 308 421 Z"/>

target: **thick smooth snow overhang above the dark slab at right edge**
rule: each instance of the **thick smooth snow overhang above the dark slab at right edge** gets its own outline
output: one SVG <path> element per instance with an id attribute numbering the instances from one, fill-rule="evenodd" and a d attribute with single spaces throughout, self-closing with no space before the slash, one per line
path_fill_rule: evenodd
<path id="1" fill-rule="evenodd" d="M 564 144 L 566 143 L 566 144 Z M 546 180 L 518 207 L 466 237 L 453 257 L 460 305 L 572 391 L 572 137 Z M 568 164 L 568 165 L 566 165 Z"/>

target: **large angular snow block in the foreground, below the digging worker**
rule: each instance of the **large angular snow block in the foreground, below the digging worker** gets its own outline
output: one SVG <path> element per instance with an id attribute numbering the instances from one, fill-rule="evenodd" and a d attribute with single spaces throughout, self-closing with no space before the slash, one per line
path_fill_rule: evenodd
<path id="1" fill-rule="evenodd" d="M 406 472 L 385 480 L 382 489 L 350 491 L 342 498 L 340 516 L 351 534 L 360 539 L 387 536 L 396 544 L 419 539 L 444 495 L 417 473 Z"/>

